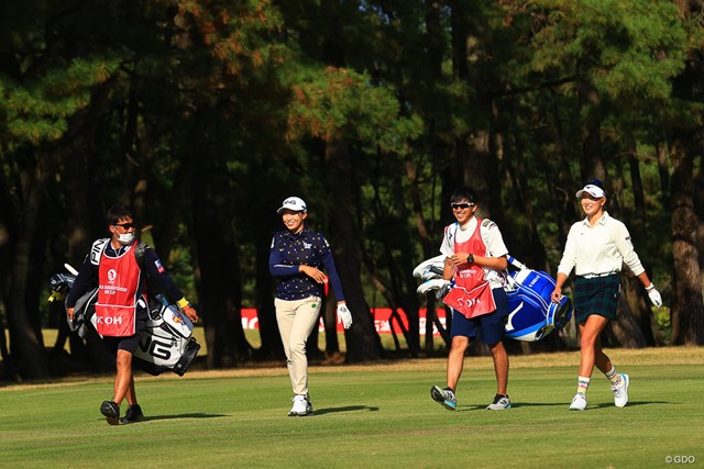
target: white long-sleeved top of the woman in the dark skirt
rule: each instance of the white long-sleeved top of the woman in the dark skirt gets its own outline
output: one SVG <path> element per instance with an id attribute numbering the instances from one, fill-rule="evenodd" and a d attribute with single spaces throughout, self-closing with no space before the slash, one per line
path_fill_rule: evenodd
<path id="1" fill-rule="evenodd" d="M 624 264 L 635 276 L 646 270 L 626 225 L 604 212 L 594 226 L 587 217 L 572 225 L 558 272 L 569 276 L 574 269 L 581 277 L 603 276 L 620 272 Z"/>

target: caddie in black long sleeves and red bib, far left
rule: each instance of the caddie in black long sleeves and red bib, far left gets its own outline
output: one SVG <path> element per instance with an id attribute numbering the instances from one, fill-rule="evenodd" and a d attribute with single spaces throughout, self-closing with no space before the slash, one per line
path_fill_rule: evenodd
<path id="1" fill-rule="evenodd" d="M 84 294 L 95 298 L 97 289 L 91 323 L 116 359 L 113 395 L 102 401 L 100 413 L 110 425 L 122 425 L 144 420 L 134 390 L 132 357 L 138 347 L 144 349 L 140 340 L 150 314 L 146 280 L 153 281 L 193 323 L 198 322 L 198 312 L 166 273 L 154 249 L 136 239 L 136 225 L 129 208 L 116 203 L 108 210 L 106 221 L 110 237 L 92 243 L 66 297 L 66 314 L 73 322 L 76 303 Z M 125 400 L 128 410 L 121 417 L 120 405 Z"/>

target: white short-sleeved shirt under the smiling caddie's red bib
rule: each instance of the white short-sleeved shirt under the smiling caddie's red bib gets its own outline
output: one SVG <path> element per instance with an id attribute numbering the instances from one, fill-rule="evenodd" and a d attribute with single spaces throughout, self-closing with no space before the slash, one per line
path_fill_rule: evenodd
<path id="1" fill-rule="evenodd" d="M 454 243 L 468 242 L 476 230 L 476 216 L 472 216 L 464 226 L 460 226 L 457 222 L 446 226 L 442 244 L 440 245 L 440 253 L 447 257 L 451 257 L 454 254 Z M 486 257 L 502 257 L 508 254 L 508 249 L 504 244 L 504 237 L 498 226 L 496 226 L 496 223 L 488 219 L 482 220 L 480 235 L 482 236 L 484 246 L 486 246 Z M 482 267 L 482 269 L 484 269 L 484 278 L 488 280 L 492 288 L 504 287 L 506 279 L 503 272 L 485 267 Z"/>

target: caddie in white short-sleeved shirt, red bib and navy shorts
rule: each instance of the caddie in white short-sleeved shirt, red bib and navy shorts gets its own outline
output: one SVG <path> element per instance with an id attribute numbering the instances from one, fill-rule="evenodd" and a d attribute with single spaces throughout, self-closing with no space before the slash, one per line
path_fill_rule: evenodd
<path id="1" fill-rule="evenodd" d="M 457 223 L 446 226 L 440 253 L 446 256 L 442 278 L 453 280 L 443 302 L 452 308 L 452 344 L 448 355 L 447 384 L 433 386 L 430 397 L 443 407 L 457 409 L 457 386 L 470 343 L 480 338 L 491 350 L 496 375 L 496 395 L 486 406 L 510 409 L 508 354 L 503 344 L 508 319 L 508 297 L 504 290 L 508 249 L 494 222 L 475 216 L 476 193 L 459 188 L 450 198 Z"/>

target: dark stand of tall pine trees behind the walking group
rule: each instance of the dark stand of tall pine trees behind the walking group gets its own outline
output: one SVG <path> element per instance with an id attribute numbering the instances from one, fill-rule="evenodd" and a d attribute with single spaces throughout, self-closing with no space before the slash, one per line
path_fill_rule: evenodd
<path id="1" fill-rule="evenodd" d="M 452 190 L 475 188 L 512 254 L 552 272 L 591 177 L 667 306 L 651 310 L 626 276 L 613 344 L 704 343 L 698 0 L 26 0 L 1 12 L 6 377 L 52 375 L 46 279 L 82 261 L 116 201 L 199 305 L 208 365 L 228 367 L 280 356 L 268 247 L 280 201 L 302 197 L 354 316 L 346 359 L 363 361 L 385 354 L 372 306 L 407 320 L 409 355 L 424 334 L 433 353 L 418 317 L 437 304 L 411 270 L 438 253 Z M 243 306 L 257 309 L 256 350 Z M 664 317 L 667 339 L 653 332 Z M 90 346 L 72 342 L 73 358 Z"/>

